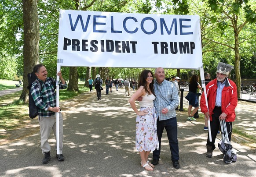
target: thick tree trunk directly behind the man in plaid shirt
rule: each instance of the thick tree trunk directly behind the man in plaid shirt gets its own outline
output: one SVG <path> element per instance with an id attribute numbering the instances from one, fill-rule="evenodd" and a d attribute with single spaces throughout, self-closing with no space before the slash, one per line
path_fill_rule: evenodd
<path id="1" fill-rule="evenodd" d="M 23 46 L 23 89 L 20 100 L 28 102 L 29 90 L 27 74 L 39 63 L 39 21 L 37 13 L 37 0 L 22 0 L 24 23 Z"/>

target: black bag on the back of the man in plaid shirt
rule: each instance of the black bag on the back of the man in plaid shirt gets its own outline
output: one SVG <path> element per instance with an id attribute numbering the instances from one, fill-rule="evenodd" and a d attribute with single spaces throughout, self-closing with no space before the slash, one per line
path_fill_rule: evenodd
<path id="1" fill-rule="evenodd" d="M 54 82 L 53 78 L 50 78 L 52 82 Z M 34 81 L 36 81 L 37 83 L 39 83 L 40 89 L 41 91 L 43 90 L 43 85 L 42 83 L 37 79 L 37 75 L 34 72 L 31 72 L 28 74 L 28 81 L 29 81 L 29 86 L 27 86 L 27 88 L 29 89 L 29 117 L 31 119 L 37 117 L 38 115 L 38 108 L 33 100 L 33 97 L 31 95 L 31 91 L 30 88 L 32 87 L 32 84 Z"/>

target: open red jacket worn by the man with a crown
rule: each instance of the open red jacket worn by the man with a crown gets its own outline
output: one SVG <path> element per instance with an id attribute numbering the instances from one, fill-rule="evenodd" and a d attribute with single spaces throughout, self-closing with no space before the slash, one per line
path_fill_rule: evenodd
<path id="1" fill-rule="evenodd" d="M 212 121 L 213 109 L 215 107 L 216 101 L 216 93 L 217 93 L 217 78 L 210 81 L 205 88 L 207 99 L 208 99 L 208 107 L 210 113 L 210 120 Z M 205 92 L 204 91 L 204 92 Z M 205 104 L 205 93 L 202 93 L 200 100 L 200 107 L 202 113 L 207 113 L 208 109 Z M 226 84 L 221 93 L 221 110 L 222 112 L 227 114 L 226 122 L 234 122 L 236 114 L 235 108 L 238 105 L 238 94 L 237 94 L 237 86 L 233 81 L 226 78 Z"/>

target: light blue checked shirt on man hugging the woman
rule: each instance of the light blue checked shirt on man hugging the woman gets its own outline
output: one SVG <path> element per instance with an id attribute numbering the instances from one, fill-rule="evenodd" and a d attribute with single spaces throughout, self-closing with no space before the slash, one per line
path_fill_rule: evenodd
<path id="1" fill-rule="evenodd" d="M 156 99 L 154 100 L 154 107 L 156 108 L 157 117 L 159 120 L 167 120 L 176 117 L 176 107 L 179 105 L 179 95 L 176 86 L 167 80 L 164 80 L 161 84 L 158 84 L 156 79 L 154 80 L 154 91 Z M 161 110 L 168 109 L 168 113 L 162 114 Z"/>

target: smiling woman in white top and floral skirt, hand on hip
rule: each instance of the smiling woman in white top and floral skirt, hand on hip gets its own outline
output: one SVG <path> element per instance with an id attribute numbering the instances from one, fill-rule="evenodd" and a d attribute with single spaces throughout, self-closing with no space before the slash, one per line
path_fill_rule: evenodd
<path id="1" fill-rule="evenodd" d="M 144 70 L 140 74 L 138 90 L 129 100 L 136 117 L 136 140 L 135 148 L 139 151 L 141 166 L 148 171 L 153 171 L 154 165 L 148 160 L 151 151 L 159 148 L 157 138 L 157 117 L 154 108 L 154 78 L 150 70 Z M 137 109 L 135 101 L 143 97 L 139 102 L 140 110 Z"/>

